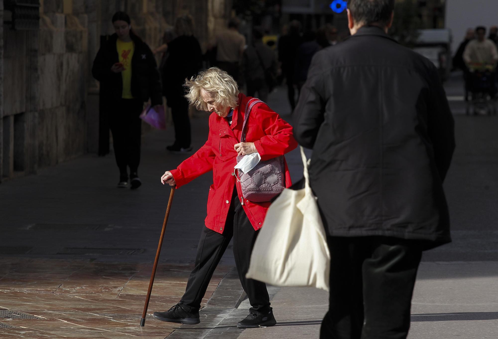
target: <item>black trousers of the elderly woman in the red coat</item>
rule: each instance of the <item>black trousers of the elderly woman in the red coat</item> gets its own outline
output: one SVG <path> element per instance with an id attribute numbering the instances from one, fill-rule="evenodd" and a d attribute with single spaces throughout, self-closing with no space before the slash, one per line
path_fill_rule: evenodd
<path id="1" fill-rule="evenodd" d="M 197 247 L 195 267 L 188 278 L 187 288 L 182 297 L 184 304 L 194 309 L 201 307 L 202 298 L 206 293 L 213 272 L 233 236 L 235 263 L 242 287 L 252 306 L 250 312 L 269 313 L 271 307 L 266 285 L 260 281 L 246 278 L 250 254 L 258 232 L 252 228 L 234 188 L 223 234 L 207 227 L 202 230 Z"/>

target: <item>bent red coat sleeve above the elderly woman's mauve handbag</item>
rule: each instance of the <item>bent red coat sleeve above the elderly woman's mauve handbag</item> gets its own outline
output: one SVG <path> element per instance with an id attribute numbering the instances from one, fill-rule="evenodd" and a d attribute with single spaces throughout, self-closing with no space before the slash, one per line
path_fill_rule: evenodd
<path id="1" fill-rule="evenodd" d="M 263 130 L 262 138 L 254 142 L 254 146 L 261 156 L 261 160 L 268 160 L 284 155 L 297 147 L 292 126 L 272 111 L 266 104 L 259 103 L 253 108 L 254 117 Z M 251 112 L 251 116 L 252 116 Z"/>

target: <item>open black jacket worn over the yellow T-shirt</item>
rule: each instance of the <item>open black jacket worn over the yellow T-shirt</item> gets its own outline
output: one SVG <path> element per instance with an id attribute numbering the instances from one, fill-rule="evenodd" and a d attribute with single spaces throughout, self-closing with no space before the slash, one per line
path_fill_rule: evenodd
<path id="1" fill-rule="evenodd" d="M 131 36 L 135 49 L 131 58 L 131 94 L 145 102 L 151 99 L 152 106 L 162 105 L 161 83 L 154 55 L 149 46 L 136 36 Z M 92 75 L 100 81 L 101 96 L 108 101 L 119 100 L 123 94 L 123 77 L 111 67 L 119 62 L 116 42 L 118 35 L 109 37 L 95 57 Z"/>

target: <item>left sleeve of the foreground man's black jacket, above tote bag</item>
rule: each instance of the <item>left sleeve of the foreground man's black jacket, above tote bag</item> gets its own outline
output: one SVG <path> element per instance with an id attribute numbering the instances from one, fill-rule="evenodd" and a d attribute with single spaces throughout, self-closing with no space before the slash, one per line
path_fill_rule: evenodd
<path id="1" fill-rule="evenodd" d="M 293 113 L 295 138 L 306 148 L 313 148 L 318 130 L 324 121 L 325 99 L 321 55 L 322 53 L 318 52 L 313 57 L 308 79 L 301 89 L 299 102 Z"/>

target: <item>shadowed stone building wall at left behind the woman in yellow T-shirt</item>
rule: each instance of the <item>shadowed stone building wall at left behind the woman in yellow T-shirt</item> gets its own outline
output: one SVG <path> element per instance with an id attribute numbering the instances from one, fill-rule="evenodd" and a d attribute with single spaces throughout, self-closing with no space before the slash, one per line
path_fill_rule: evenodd
<path id="1" fill-rule="evenodd" d="M 178 15 L 191 14 L 205 50 L 231 0 L 40 0 L 39 29 L 0 29 L 0 181 L 97 152 L 98 82 L 91 67 L 112 15 L 128 12 L 154 49 Z M 0 18 L 3 18 L 0 1 Z M 3 20 L 2 20 L 3 21 Z"/>

